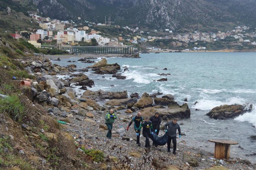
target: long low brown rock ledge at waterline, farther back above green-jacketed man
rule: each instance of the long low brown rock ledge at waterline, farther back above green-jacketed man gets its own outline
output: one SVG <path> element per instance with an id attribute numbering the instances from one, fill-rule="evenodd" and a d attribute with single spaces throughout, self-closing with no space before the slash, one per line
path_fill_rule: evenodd
<path id="1" fill-rule="evenodd" d="M 95 101 L 104 101 L 106 99 L 127 99 L 127 91 L 103 91 L 103 90 L 98 90 L 98 91 L 91 91 L 91 90 L 86 90 L 83 92 L 83 96 L 81 98 L 88 98 L 92 99 Z"/>

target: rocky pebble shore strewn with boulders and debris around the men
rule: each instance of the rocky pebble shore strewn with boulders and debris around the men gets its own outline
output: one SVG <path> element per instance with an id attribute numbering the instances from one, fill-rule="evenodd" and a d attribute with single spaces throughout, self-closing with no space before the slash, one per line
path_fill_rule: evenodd
<path id="1" fill-rule="evenodd" d="M 94 55 L 87 56 L 89 59 Z M 113 56 L 113 55 L 111 55 Z M 54 56 L 56 57 L 60 56 Z M 62 57 L 62 56 L 61 56 Z M 67 58 L 70 56 L 66 56 Z M 78 56 L 72 56 L 78 57 Z M 85 57 L 85 56 L 79 56 Z M 95 58 L 98 58 L 95 56 Z M 104 56 L 106 57 L 106 56 Z M 86 72 L 73 74 L 76 70 L 75 64 L 61 67 L 52 64 L 49 58 L 53 56 L 33 57 L 19 60 L 30 75 L 35 76 L 33 80 L 24 79 L 31 83 L 31 86 L 23 86 L 23 93 L 34 103 L 39 103 L 53 119 L 59 120 L 63 131 L 69 132 L 75 137 L 77 151 L 81 149 L 98 149 L 104 152 L 105 159 L 97 163 L 95 167 L 99 169 L 166 169 L 166 170 L 253 170 L 255 164 L 240 158 L 230 160 L 214 159 L 213 153 L 209 153 L 198 148 L 188 147 L 186 141 L 177 139 L 177 154 L 167 153 L 167 146 L 151 147 L 145 149 L 138 147 L 135 143 L 135 131 L 125 127 L 131 121 L 132 116 L 137 111 L 142 112 L 142 116 L 152 116 L 159 112 L 163 119 L 161 123 L 160 136 L 164 134 L 163 124 L 173 118 L 178 118 L 178 123 L 182 124 L 182 119 L 190 117 L 190 109 L 187 103 L 181 106 L 174 100 L 171 94 L 144 93 L 140 96 L 133 92 L 129 97 L 127 91 L 91 91 L 87 88 L 94 85 L 94 81 L 86 76 Z M 85 57 L 86 58 L 86 57 Z M 90 58 L 92 59 L 92 58 Z M 120 69 L 117 63 L 108 64 L 105 59 L 84 69 L 92 69 L 95 74 L 116 74 Z M 82 71 L 81 71 L 82 72 Z M 56 75 L 69 75 L 68 79 L 58 79 Z M 78 98 L 76 91 L 70 86 L 81 86 L 85 91 Z M 112 139 L 107 139 L 105 126 L 105 113 L 113 109 L 117 114 L 113 125 Z M 234 111 L 236 112 L 236 110 Z M 214 117 L 213 117 L 214 118 Z M 27 126 L 32 126 L 29 122 Z M 181 125 L 182 130 L 182 125 Z M 47 131 L 42 133 L 49 135 Z M 183 135 L 186 135 L 183 133 Z M 54 136 L 53 136 L 54 137 Z M 69 140 L 72 141 L 72 140 Z M 141 136 L 141 144 L 145 143 L 145 138 Z M 152 141 L 150 141 L 152 144 Z M 89 169 L 93 167 L 89 167 Z"/>

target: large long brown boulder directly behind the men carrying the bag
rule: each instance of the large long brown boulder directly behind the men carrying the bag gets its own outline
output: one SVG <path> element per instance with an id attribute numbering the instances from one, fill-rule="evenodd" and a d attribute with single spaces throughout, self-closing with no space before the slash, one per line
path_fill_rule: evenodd
<path id="1" fill-rule="evenodd" d="M 153 116 L 155 112 L 160 113 L 160 117 L 162 119 L 166 118 L 167 120 L 173 120 L 174 118 L 184 119 L 190 117 L 190 109 L 188 108 L 187 103 L 183 104 L 182 106 L 178 104 L 169 104 L 168 108 L 163 106 L 154 106 L 141 110 L 143 117 Z"/>

